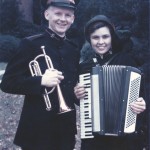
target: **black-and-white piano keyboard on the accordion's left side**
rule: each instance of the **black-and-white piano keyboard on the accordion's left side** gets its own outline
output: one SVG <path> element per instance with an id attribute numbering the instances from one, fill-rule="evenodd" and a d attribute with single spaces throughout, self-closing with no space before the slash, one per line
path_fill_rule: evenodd
<path id="1" fill-rule="evenodd" d="M 93 138 L 91 120 L 91 79 L 90 73 L 80 75 L 80 84 L 86 85 L 86 96 L 80 99 L 81 139 Z"/>

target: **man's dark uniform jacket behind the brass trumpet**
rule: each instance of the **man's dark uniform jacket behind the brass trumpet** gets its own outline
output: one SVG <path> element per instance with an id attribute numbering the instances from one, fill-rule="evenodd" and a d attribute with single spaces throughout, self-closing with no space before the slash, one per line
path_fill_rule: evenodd
<path id="1" fill-rule="evenodd" d="M 29 62 L 42 54 L 41 46 L 50 56 L 55 69 L 62 71 L 64 80 L 60 87 L 66 104 L 74 111 L 58 115 L 59 104 L 56 89 L 49 94 L 52 110 L 46 111 L 41 86 L 41 76 L 32 77 Z M 76 102 L 73 88 L 78 79 L 79 50 L 67 38 L 60 38 L 51 30 L 22 40 L 18 53 L 8 63 L 1 89 L 7 93 L 25 95 L 22 114 L 14 143 L 19 146 L 49 145 L 52 135 L 76 134 Z M 44 58 L 39 59 L 42 73 L 47 69 Z M 50 90 L 50 89 L 48 89 Z M 64 137 L 63 137 L 64 138 Z"/>

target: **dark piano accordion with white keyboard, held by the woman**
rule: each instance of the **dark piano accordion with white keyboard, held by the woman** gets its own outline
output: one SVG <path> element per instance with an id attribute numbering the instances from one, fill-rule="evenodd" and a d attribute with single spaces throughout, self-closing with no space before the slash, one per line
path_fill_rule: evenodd
<path id="1" fill-rule="evenodd" d="M 96 66 L 81 74 L 86 96 L 80 100 L 81 139 L 122 136 L 135 131 L 130 103 L 139 97 L 141 72 L 130 66 Z"/>

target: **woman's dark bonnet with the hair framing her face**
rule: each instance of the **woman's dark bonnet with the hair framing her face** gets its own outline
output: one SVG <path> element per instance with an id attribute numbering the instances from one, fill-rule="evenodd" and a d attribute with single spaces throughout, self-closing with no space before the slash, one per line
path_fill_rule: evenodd
<path id="1" fill-rule="evenodd" d="M 91 19 L 85 27 L 86 40 L 90 43 L 90 36 L 95 30 L 102 28 L 102 27 L 108 27 L 110 34 L 111 34 L 111 38 L 112 38 L 112 50 L 114 52 L 119 51 L 121 48 L 120 40 L 110 20 L 106 16 L 103 16 L 103 15 L 99 15 L 97 18 L 96 17 Z"/>

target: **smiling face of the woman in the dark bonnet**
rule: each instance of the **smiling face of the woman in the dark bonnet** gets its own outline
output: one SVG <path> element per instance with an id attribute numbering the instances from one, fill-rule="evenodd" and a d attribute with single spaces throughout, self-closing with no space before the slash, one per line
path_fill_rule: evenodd
<path id="1" fill-rule="evenodd" d="M 111 48 L 111 34 L 108 27 L 96 29 L 90 36 L 91 46 L 94 51 L 103 55 Z"/>

